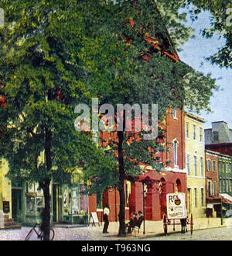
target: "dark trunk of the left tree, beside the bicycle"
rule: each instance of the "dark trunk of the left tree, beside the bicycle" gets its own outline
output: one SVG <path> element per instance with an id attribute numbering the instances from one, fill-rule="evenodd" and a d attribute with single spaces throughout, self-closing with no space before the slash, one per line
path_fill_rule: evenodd
<path id="1" fill-rule="evenodd" d="M 51 130 L 46 129 L 45 134 L 45 157 L 46 157 L 46 172 L 49 172 L 52 168 L 52 157 L 51 157 L 51 141 L 52 133 Z M 40 187 L 43 189 L 44 195 L 44 213 L 43 213 L 43 240 L 49 240 L 49 230 L 50 230 L 50 194 L 49 185 L 50 179 L 45 178 L 43 182 L 39 182 Z"/>

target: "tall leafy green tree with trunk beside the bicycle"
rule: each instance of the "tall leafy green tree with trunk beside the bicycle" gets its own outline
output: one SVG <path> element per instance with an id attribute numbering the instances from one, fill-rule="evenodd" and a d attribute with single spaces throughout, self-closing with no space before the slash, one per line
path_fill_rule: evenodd
<path id="1" fill-rule="evenodd" d="M 1 153 L 9 177 L 39 182 L 45 199 L 44 238 L 49 240 L 49 185 L 70 178 L 95 144 L 73 126 L 78 102 L 90 102 L 87 71 L 77 53 L 91 28 L 91 3 L 1 2 Z M 97 43 L 96 43 L 97 45 Z M 41 161 L 44 159 L 44 161 Z"/>

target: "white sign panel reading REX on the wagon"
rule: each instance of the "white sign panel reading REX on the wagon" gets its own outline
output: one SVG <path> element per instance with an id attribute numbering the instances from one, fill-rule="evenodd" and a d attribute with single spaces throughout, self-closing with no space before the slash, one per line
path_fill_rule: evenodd
<path id="1" fill-rule="evenodd" d="M 169 193 L 166 195 L 168 219 L 186 219 L 186 194 Z"/>

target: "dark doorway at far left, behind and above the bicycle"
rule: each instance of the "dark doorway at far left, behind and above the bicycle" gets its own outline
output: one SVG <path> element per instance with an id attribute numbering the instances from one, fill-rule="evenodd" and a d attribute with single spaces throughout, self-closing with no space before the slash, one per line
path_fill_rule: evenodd
<path id="1" fill-rule="evenodd" d="M 16 222 L 22 220 L 22 190 L 12 189 L 12 219 Z"/>

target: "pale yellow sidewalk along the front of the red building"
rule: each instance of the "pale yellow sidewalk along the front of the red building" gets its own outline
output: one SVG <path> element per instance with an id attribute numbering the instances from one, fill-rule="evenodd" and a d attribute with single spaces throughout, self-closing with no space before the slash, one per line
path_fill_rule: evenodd
<path id="1" fill-rule="evenodd" d="M 178 220 L 176 220 L 176 223 Z M 99 234 L 99 240 L 132 240 L 132 239 L 138 239 L 145 238 L 145 237 L 154 237 L 159 235 L 164 235 L 163 230 L 163 223 L 162 220 L 160 221 L 151 221 L 146 220 L 145 221 L 145 234 L 144 234 L 144 224 L 142 223 L 142 226 L 140 227 L 139 233 L 136 231 L 132 234 L 128 234 L 127 237 L 118 237 L 118 222 L 111 222 L 108 227 L 109 234 L 102 234 L 104 223 L 100 223 L 100 226 L 96 225 L 96 227 L 93 227 L 92 224 L 90 224 L 89 229 L 93 230 L 94 232 L 97 232 Z M 221 225 L 220 218 L 200 218 L 200 219 L 193 219 L 193 232 L 194 230 L 203 230 L 203 229 L 210 229 L 210 228 L 217 228 L 217 227 L 230 227 L 232 226 L 232 218 L 223 219 L 223 225 Z M 168 234 L 171 233 L 177 233 L 180 232 L 181 226 L 176 225 L 175 231 L 173 230 L 173 225 L 168 225 Z M 190 225 L 187 225 L 188 232 L 190 231 Z"/>

